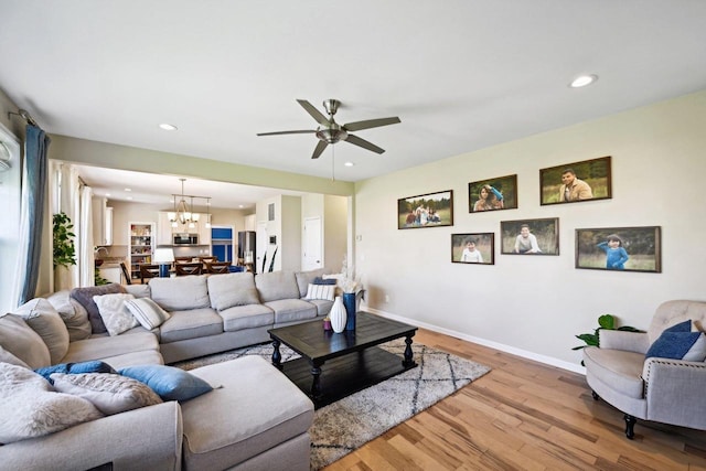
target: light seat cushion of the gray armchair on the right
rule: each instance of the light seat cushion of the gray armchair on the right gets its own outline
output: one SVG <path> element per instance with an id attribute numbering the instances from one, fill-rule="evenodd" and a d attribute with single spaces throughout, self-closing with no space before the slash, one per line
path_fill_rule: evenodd
<path id="1" fill-rule="evenodd" d="M 588 346 L 584 349 L 584 363 L 596 377 L 621 394 L 635 399 L 643 398 L 643 354 Z"/>

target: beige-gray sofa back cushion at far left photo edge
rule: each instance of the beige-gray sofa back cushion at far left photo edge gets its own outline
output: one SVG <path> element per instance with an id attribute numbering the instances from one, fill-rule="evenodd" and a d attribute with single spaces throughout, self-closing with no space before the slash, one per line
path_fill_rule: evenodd
<path id="1" fill-rule="evenodd" d="M 0 317 L 0 345 L 31 368 L 41 368 L 52 363 L 42 338 L 20 315 Z"/>

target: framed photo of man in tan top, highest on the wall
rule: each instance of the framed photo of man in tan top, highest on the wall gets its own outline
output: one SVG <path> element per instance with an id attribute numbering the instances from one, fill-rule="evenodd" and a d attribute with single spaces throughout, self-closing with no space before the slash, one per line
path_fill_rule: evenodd
<path id="1" fill-rule="evenodd" d="M 539 170 L 542 205 L 612 197 L 610 156 Z"/>

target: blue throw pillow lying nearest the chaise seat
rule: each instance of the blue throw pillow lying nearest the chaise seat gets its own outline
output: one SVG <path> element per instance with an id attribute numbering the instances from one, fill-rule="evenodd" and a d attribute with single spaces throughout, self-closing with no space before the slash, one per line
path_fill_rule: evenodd
<path id="1" fill-rule="evenodd" d="M 145 383 L 162 400 L 189 400 L 213 390 L 205 381 L 174 366 L 128 366 L 118 373 Z"/>

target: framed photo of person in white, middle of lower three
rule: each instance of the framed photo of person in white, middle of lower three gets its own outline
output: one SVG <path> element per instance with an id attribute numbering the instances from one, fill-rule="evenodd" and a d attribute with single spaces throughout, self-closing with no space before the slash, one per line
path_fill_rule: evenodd
<path id="1" fill-rule="evenodd" d="M 559 220 L 502 221 L 500 253 L 507 255 L 559 255 Z"/>

